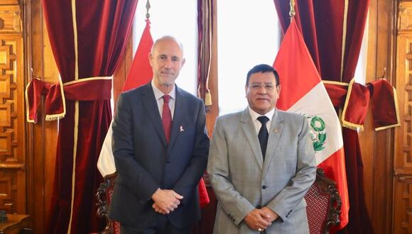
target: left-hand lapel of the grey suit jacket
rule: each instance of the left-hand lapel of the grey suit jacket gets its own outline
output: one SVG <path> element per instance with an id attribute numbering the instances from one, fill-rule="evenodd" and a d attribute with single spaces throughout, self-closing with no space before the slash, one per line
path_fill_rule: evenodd
<path id="1" fill-rule="evenodd" d="M 243 111 L 242 116 L 240 117 L 240 122 L 243 133 L 249 141 L 249 145 L 251 146 L 251 151 L 253 152 L 256 162 L 258 163 L 259 168 L 262 169 L 264 159 L 262 157 L 261 147 L 259 145 L 254 123 L 251 119 L 248 108 Z"/>

